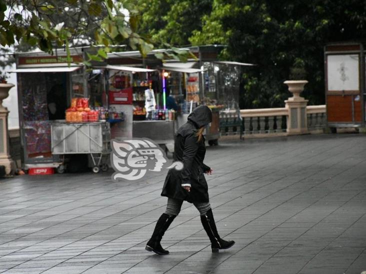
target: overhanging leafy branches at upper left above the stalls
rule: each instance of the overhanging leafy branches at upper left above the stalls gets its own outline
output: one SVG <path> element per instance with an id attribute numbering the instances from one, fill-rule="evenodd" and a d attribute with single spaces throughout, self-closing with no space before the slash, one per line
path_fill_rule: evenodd
<path id="1" fill-rule="evenodd" d="M 139 13 L 129 0 L 0 0 L 0 44 L 38 47 L 53 54 L 55 47 L 103 45 L 84 60 L 101 61 L 111 45 L 126 45 L 143 56 L 154 45 L 138 33 Z M 185 60 L 188 52 L 171 50 L 164 58 Z M 70 61 L 70 58 L 69 58 Z"/>

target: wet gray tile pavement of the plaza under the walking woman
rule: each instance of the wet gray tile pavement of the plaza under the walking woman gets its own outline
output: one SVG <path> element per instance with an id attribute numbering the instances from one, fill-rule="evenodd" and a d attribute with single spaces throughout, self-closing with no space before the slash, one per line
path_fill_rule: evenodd
<path id="1" fill-rule="evenodd" d="M 189 203 L 165 233 L 167 256 L 144 250 L 164 211 L 164 173 L 0 181 L 0 273 L 359 274 L 366 270 L 366 135 L 220 142 L 205 163 L 221 237 L 212 254 Z"/>

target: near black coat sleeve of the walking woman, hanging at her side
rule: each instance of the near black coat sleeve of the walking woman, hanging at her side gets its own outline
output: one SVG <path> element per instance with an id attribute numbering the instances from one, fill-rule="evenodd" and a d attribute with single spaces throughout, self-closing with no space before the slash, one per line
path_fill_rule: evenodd
<path id="1" fill-rule="evenodd" d="M 192 162 L 198 150 L 197 137 L 194 134 L 188 135 L 184 141 L 183 170 L 181 171 L 181 184 L 190 184 Z"/>

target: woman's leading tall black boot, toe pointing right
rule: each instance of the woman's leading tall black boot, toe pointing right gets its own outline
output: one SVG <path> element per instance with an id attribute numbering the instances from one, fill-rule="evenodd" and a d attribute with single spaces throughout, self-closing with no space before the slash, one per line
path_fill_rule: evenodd
<path id="1" fill-rule="evenodd" d="M 220 236 L 217 233 L 211 209 L 209 209 L 205 215 L 201 215 L 201 222 L 204 230 L 207 233 L 209 240 L 211 241 L 212 252 L 218 252 L 218 250 L 220 249 L 231 248 L 235 244 L 234 241 L 227 242 L 220 238 Z"/>

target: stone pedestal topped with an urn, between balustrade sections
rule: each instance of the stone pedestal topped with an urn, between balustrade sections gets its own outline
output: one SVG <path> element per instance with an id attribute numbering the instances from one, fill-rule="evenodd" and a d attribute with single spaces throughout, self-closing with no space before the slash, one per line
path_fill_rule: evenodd
<path id="1" fill-rule="evenodd" d="M 300 97 L 306 80 L 284 81 L 288 86 L 288 90 L 293 94 L 292 97 L 285 100 L 285 107 L 288 110 L 287 134 L 307 134 L 307 113 L 306 105 L 308 100 Z"/>

